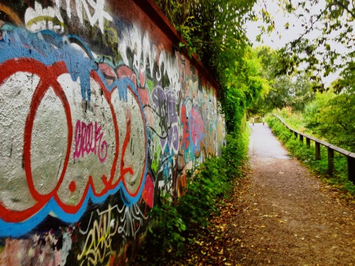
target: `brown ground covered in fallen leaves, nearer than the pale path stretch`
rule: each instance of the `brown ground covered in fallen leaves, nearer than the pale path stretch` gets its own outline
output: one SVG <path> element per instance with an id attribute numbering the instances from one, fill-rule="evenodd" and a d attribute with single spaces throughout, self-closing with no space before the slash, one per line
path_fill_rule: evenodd
<path id="1" fill-rule="evenodd" d="M 354 200 L 295 159 L 263 160 L 169 265 L 355 265 Z"/>

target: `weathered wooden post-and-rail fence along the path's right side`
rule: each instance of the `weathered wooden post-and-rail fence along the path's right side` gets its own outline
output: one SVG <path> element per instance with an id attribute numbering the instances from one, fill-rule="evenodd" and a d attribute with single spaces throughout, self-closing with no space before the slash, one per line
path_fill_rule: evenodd
<path id="1" fill-rule="evenodd" d="M 348 179 L 355 184 L 355 153 L 351 153 L 348 150 L 344 150 L 342 148 L 339 148 L 337 146 L 334 146 L 330 143 L 327 143 L 323 140 L 319 140 L 315 137 L 312 137 L 311 135 L 306 135 L 300 131 L 296 131 L 295 129 L 291 128 L 288 126 L 285 121 L 283 121 L 283 118 L 280 118 L 280 116 L 275 115 L 275 113 L 272 114 L 273 116 L 277 117 L 281 123 L 285 125 L 286 128 L 288 128 L 291 132 L 295 134 L 295 138 L 300 136 L 300 141 L 303 143 L 303 138 L 306 139 L 306 145 L 307 148 L 310 148 L 310 140 L 313 140 L 315 142 L 315 160 L 320 160 L 320 145 L 323 145 L 324 147 L 327 147 L 328 149 L 328 174 L 332 175 L 334 174 L 334 151 L 337 153 L 340 153 L 342 155 L 345 155 L 347 158 L 348 162 Z"/>

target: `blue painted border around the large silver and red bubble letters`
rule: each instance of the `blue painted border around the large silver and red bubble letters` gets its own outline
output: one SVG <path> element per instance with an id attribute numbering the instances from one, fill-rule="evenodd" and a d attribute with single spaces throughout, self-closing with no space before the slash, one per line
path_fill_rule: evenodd
<path id="1" fill-rule="evenodd" d="M 75 35 L 67 35 L 66 38 L 62 38 L 57 33 L 53 31 L 44 30 L 39 31 L 38 33 L 31 33 L 23 28 L 18 28 L 16 26 L 12 26 L 9 24 L 4 24 L 0 28 L 0 33 L 2 35 L 2 39 L 0 40 L 0 64 L 6 62 L 7 60 L 11 60 L 13 58 L 31 58 L 33 60 L 38 60 L 42 62 L 44 65 L 49 66 L 53 65 L 56 62 L 65 62 L 67 66 L 67 70 L 72 77 L 74 82 L 77 81 L 77 78 L 80 77 L 81 84 L 81 92 L 82 98 L 90 101 L 90 72 L 93 70 L 99 75 L 99 78 L 102 79 L 102 83 L 106 86 L 111 92 L 114 87 L 117 87 L 117 92 L 119 94 L 119 99 L 127 101 L 127 89 L 131 88 L 133 94 L 135 94 L 136 99 L 138 99 L 138 104 L 141 108 L 141 114 L 143 116 L 143 126 L 145 128 L 144 134 L 147 140 L 147 126 L 146 126 L 146 115 L 143 111 L 143 103 L 141 101 L 141 97 L 138 94 L 138 90 L 136 86 L 128 77 L 123 77 L 121 79 L 116 79 L 114 84 L 108 86 L 106 80 L 104 79 L 104 74 L 97 67 L 97 62 L 94 61 L 94 56 L 92 55 L 91 50 L 79 37 Z M 49 43 L 45 41 L 43 35 L 52 37 L 57 44 Z M 69 39 L 74 38 L 80 45 L 84 46 L 87 53 L 89 53 L 89 57 L 86 57 L 84 52 L 81 52 L 72 47 Z M 57 47 L 57 49 L 53 48 L 53 45 Z M 60 52 L 55 54 L 55 52 Z M 72 58 L 75 58 L 75 61 L 72 61 Z M 90 58 L 91 57 L 91 58 Z M 79 72 L 75 72 L 73 68 L 73 63 L 80 63 Z M 75 65 L 77 67 L 77 65 Z M 41 221 L 45 219 L 48 215 L 51 215 L 50 212 L 53 212 L 56 217 L 59 217 L 60 220 L 65 223 L 75 223 L 80 220 L 82 215 L 87 209 L 89 204 L 89 200 L 91 200 L 94 204 L 102 204 L 108 196 L 116 194 L 116 192 L 120 192 L 121 199 L 124 201 L 124 204 L 127 206 L 131 206 L 132 204 L 136 204 L 139 199 L 141 199 L 144 185 L 146 184 L 146 176 L 148 173 L 148 145 L 146 147 L 146 164 L 143 170 L 143 177 L 141 180 L 141 187 L 139 188 L 136 196 L 131 196 L 129 192 L 126 191 L 123 182 L 119 182 L 119 184 L 114 188 L 107 192 L 107 194 L 103 196 L 95 196 L 92 190 L 92 187 L 89 186 L 87 196 L 85 197 L 81 208 L 75 214 L 67 214 L 63 211 L 60 206 L 55 201 L 54 197 L 52 197 L 47 204 L 45 204 L 40 211 L 36 214 L 28 218 L 26 221 L 13 223 L 6 222 L 0 218 L 0 237 L 13 237 L 19 238 L 22 235 L 26 235 L 26 233 L 32 231 L 36 226 L 38 226 Z"/>

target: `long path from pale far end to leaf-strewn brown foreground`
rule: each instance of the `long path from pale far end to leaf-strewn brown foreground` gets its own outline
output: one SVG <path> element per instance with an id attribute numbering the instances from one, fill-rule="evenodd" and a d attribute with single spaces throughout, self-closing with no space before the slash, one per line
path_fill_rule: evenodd
<path id="1" fill-rule="evenodd" d="M 229 224 L 228 265 L 355 265 L 355 210 L 251 126 L 251 173 Z"/>

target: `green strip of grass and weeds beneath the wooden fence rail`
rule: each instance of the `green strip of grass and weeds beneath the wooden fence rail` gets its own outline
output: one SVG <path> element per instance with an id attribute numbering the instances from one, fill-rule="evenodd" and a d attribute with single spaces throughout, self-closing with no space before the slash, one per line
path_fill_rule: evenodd
<path id="1" fill-rule="evenodd" d="M 301 143 L 299 139 L 296 139 L 295 135 L 280 123 L 275 116 L 269 116 L 266 121 L 273 133 L 275 133 L 293 156 L 302 160 L 305 165 L 315 170 L 315 172 L 322 174 L 325 182 L 342 189 L 345 194 L 355 195 L 355 185 L 347 179 L 347 161 L 344 155 L 335 153 L 334 167 L 336 172 L 329 177 L 327 176 L 328 159 L 326 148 L 321 145 L 321 160 L 315 160 L 315 146 L 313 143 L 310 148 L 307 148 L 305 143 Z"/>

